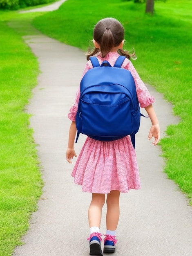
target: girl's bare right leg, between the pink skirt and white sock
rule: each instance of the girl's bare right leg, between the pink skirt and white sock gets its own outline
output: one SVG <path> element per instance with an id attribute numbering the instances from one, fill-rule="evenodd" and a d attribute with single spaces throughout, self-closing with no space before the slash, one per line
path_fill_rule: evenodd
<path id="1" fill-rule="evenodd" d="M 106 225 L 107 230 L 115 231 L 119 220 L 119 196 L 120 191 L 113 190 L 107 195 L 107 215 Z"/>

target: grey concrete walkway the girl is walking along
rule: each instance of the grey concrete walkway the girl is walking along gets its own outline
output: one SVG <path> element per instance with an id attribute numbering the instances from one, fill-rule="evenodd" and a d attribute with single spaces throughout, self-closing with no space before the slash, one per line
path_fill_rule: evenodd
<path id="1" fill-rule="evenodd" d="M 38 57 L 42 73 L 27 111 L 38 145 L 45 181 L 38 211 L 32 214 L 30 229 L 16 247 L 14 256 L 89 255 L 87 210 L 90 193 L 81 192 L 73 183 L 73 164 L 65 160 L 70 121 L 67 113 L 74 101 L 86 63 L 79 49 L 38 34 L 26 36 L 26 43 Z M 156 98 L 154 108 L 163 137 L 167 125 L 178 119 L 163 96 L 148 86 Z M 142 189 L 121 194 L 117 256 L 190 256 L 192 255 L 192 212 L 177 186 L 163 173 L 161 148 L 152 146 L 147 135 L 150 120 L 141 120 L 136 136 L 136 153 Z M 83 146 L 80 135 L 76 153 Z M 100 231 L 105 234 L 105 211 Z"/>

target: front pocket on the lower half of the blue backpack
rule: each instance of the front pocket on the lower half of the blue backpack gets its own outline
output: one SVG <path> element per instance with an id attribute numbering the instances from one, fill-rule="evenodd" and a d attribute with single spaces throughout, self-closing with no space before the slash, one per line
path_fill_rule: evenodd
<path id="1" fill-rule="evenodd" d="M 82 132 L 88 136 L 126 136 L 132 133 L 131 108 L 128 97 L 116 101 L 115 105 L 92 103 L 82 99 Z"/>

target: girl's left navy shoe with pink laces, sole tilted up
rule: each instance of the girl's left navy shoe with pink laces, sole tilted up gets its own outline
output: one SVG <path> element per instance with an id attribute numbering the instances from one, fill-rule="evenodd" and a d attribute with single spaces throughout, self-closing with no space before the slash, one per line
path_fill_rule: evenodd
<path id="1" fill-rule="evenodd" d="M 102 234 L 100 233 L 92 233 L 87 240 L 89 240 L 89 248 L 90 248 L 90 253 L 89 255 L 103 255 L 101 246 L 100 246 L 100 241 L 102 241 L 101 238 Z"/>

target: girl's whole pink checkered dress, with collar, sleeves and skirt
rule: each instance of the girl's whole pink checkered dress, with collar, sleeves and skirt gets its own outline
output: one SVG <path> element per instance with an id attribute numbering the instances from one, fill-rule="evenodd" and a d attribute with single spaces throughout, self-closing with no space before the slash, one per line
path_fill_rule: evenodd
<path id="1" fill-rule="evenodd" d="M 110 52 L 105 58 L 98 56 L 98 60 L 100 64 L 107 60 L 113 66 L 118 56 L 118 53 Z M 134 77 L 141 108 L 152 104 L 154 97 L 151 97 L 127 58 L 122 67 L 129 70 Z M 88 61 L 83 75 L 90 68 L 92 63 Z M 71 121 L 75 121 L 79 97 L 80 88 L 68 115 Z M 87 137 L 71 175 L 74 177 L 74 182 L 82 185 L 82 191 L 85 192 L 107 194 L 112 190 L 118 190 L 127 193 L 129 189 L 141 188 L 136 154 L 129 136 L 115 141 L 98 141 Z"/>

